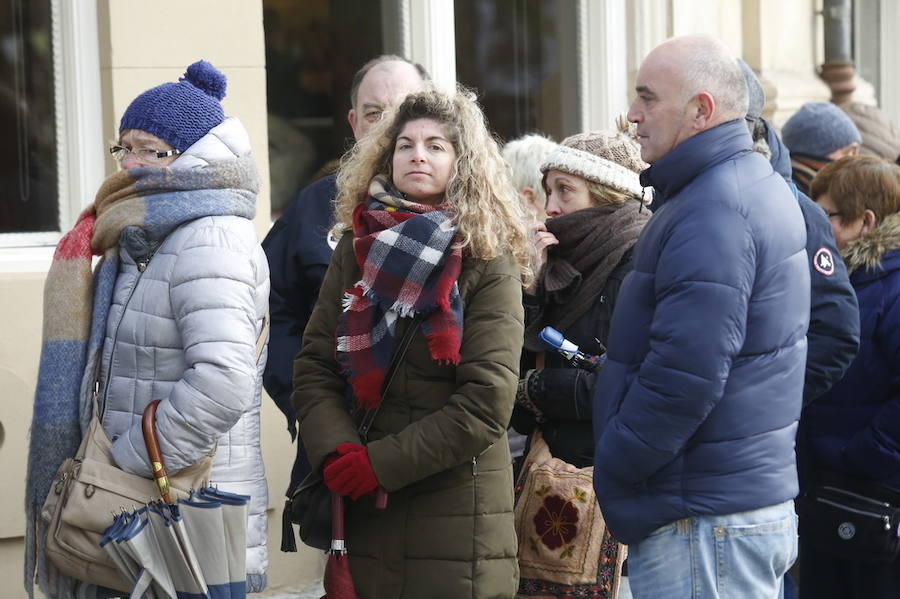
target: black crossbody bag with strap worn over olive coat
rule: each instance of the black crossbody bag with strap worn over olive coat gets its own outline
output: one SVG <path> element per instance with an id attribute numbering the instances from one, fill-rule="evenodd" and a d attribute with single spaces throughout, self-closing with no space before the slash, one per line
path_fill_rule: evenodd
<path id="1" fill-rule="evenodd" d="M 381 387 L 382 397 L 387 393 L 394 380 L 400 360 L 406 355 L 412 336 L 421 322 L 422 317 L 416 316 L 397 345 L 384 377 L 384 385 Z M 378 410 L 379 408 L 375 408 L 363 413 L 357 428 L 363 444 L 368 441 L 369 429 L 375 422 Z M 297 442 L 302 443 L 303 441 L 298 439 Z M 331 491 L 325 486 L 321 471 L 313 471 L 306 475 L 300 484 L 291 490 L 285 500 L 284 511 L 281 514 L 281 550 L 284 552 L 297 551 L 293 524 L 299 525 L 300 540 L 305 545 L 323 551 L 331 548 Z"/>

